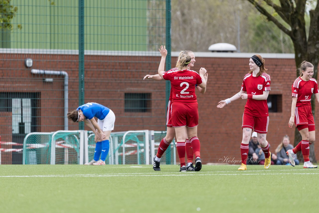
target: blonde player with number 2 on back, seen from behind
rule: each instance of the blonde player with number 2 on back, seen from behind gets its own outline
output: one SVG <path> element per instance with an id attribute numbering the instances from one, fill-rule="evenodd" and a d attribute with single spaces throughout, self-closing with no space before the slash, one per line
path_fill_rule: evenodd
<path id="1" fill-rule="evenodd" d="M 161 64 L 165 61 L 164 48 L 161 52 Z M 165 55 L 166 56 L 166 55 Z M 195 71 L 189 70 L 192 58 L 185 54 L 179 60 L 179 65 L 176 68 L 164 72 L 159 69 L 159 76 L 165 80 L 171 81 L 173 88 L 172 97 L 172 126 L 176 133 L 176 148 L 181 163 L 180 171 L 187 171 L 185 164 L 185 141 L 189 138 L 191 146 L 195 154 L 195 171 L 200 171 L 202 162 L 200 159 L 200 142 L 197 138 L 197 125 L 198 125 L 198 104 L 195 94 L 195 86 L 206 88 L 206 80 L 204 75 L 206 70 L 201 68 L 199 74 Z"/>

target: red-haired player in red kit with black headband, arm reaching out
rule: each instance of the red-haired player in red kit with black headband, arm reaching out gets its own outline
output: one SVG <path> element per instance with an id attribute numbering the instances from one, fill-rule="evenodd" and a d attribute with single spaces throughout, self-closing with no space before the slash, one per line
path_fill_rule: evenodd
<path id="1" fill-rule="evenodd" d="M 269 123 L 267 97 L 270 91 L 270 76 L 266 73 L 265 60 L 260 55 L 253 55 L 249 59 L 249 68 L 249 73 L 242 81 L 240 92 L 220 101 L 217 107 L 223 108 L 238 98 L 248 99 L 242 117 L 241 166 L 238 170 L 247 170 L 248 144 L 253 129 L 257 133 L 258 142 L 265 154 L 264 168 L 269 169 L 271 153 L 266 135 Z"/>

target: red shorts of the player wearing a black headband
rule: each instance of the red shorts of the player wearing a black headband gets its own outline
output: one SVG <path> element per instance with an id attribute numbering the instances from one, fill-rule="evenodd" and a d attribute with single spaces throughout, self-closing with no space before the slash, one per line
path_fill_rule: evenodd
<path id="1" fill-rule="evenodd" d="M 267 133 L 269 124 L 269 116 L 267 117 L 255 117 L 248 113 L 242 116 L 242 126 L 241 128 L 248 127 L 254 129 L 257 133 Z"/>

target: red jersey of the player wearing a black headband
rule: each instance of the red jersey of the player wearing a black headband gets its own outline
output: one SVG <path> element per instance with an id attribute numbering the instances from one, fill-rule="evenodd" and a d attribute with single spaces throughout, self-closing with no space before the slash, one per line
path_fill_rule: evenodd
<path id="1" fill-rule="evenodd" d="M 263 95 L 263 91 L 270 91 L 270 76 L 263 72 L 260 76 L 253 77 L 253 73 L 248 73 L 242 81 L 241 90 L 247 94 Z M 247 99 L 244 112 L 255 117 L 267 117 L 267 100 Z"/>

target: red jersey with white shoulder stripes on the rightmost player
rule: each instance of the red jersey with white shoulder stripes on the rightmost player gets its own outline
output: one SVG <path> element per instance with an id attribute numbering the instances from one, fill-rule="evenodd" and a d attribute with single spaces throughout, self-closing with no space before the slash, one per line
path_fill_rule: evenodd
<path id="1" fill-rule="evenodd" d="M 318 84 L 314 78 L 308 81 L 298 77 L 291 86 L 292 96 L 297 98 L 296 107 L 302 105 L 311 105 L 311 95 L 318 93 Z"/>

